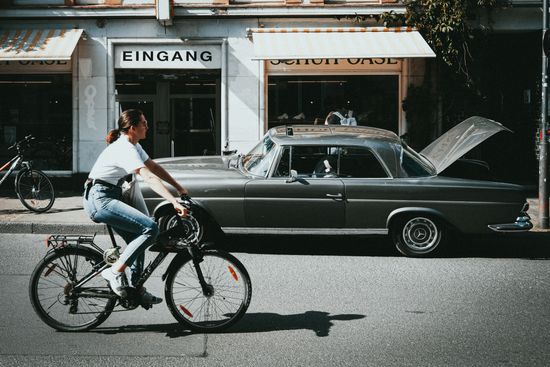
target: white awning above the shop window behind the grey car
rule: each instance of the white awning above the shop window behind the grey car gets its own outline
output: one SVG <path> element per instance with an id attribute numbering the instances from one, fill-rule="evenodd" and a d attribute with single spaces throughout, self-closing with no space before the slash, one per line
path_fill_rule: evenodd
<path id="1" fill-rule="evenodd" d="M 249 28 L 259 60 L 435 57 L 414 28 Z"/>

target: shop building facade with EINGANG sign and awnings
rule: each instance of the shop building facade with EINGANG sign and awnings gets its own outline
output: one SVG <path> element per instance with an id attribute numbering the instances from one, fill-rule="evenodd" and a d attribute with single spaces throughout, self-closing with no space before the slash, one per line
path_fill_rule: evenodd
<path id="1" fill-rule="evenodd" d="M 389 11 L 404 7 L 13 0 L 0 8 L 0 155 L 32 133 L 48 143 L 34 153 L 41 168 L 88 172 L 128 108 L 144 111 L 154 158 L 245 152 L 270 127 L 334 110 L 402 135 L 402 101 L 435 54 L 413 29 L 354 20 Z"/>

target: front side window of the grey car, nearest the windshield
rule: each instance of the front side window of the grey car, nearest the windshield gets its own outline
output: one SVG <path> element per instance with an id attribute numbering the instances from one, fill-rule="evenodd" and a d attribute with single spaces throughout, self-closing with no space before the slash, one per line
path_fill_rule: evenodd
<path id="1" fill-rule="evenodd" d="M 301 145 L 284 147 L 273 177 L 288 177 L 290 170 L 295 170 L 299 177 L 335 177 L 337 167 L 338 148 Z"/>

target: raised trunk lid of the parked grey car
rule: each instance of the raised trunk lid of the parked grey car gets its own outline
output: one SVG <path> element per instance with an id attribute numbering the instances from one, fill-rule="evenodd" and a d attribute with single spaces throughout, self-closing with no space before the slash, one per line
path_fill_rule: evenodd
<path id="1" fill-rule="evenodd" d="M 441 173 L 471 149 L 499 131 L 512 130 L 484 117 L 472 116 L 441 135 L 420 152 Z"/>

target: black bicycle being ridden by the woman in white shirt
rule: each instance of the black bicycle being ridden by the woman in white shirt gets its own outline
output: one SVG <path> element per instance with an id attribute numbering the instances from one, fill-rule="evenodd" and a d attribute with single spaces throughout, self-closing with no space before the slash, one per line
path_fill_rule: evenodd
<path id="1" fill-rule="evenodd" d="M 192 331 L 216 332 L 236 323 L 252 296 L 247 270 L 233 255 L 210 249 L 196 235 L 194 203 L 182 197 L 187 217 L 163 231 L 149 248 L 158 255 L 143 270 L 126 297 L 117 296 L 100 273 L 119 257 L 112 228 L 107 226 L 112 247 L 103 249 L 94 236 L 52 235 L 44 259 L 34 269 L 29 284 L 32 306 L 49 326 L 60 331 L 85 331 L 104 322 L 119 305 L 133 310 L 141 304 L 139 289 L 169 253 L 176 256 L 162 276 L 166 303 L 175 319 Z M 126 284 L 127 280 L 126 280 Z"/>

